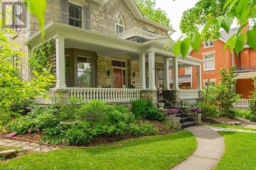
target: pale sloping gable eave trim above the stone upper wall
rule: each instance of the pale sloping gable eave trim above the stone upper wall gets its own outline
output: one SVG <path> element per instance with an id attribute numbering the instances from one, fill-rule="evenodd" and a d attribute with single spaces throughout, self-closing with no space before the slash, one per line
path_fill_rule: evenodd
<path id="1" fill-rule="evenodd" d="M 94 0 L 95 2 L 98 2 L 100 4 L 105 4 L 106 2 L 110 1 L 110 0 Z M 150 23 L 151 25 L 154 25 L 156 27 L 159 27 L 163 30 L 166 30 L 166 31 L 173 31 L 173 32 L 176 32 L 174 29 L 172 28 L 169 28 L 169 27 L 166 27 L 164 25 L 161 25 L 160 23 L 156 22 L 156 21 L 153 21 L 151 19 L 148 19 L 146 17 L 144 17 L 144 15 L 142 14 L 142 12 L 140 11 L 139 7 L 137 6 L 137 4 L 135 3 L 134 0 L 123 0 L 127 6 L 131 9 L 132 13 L 134 14 L 134 16 L 137 18 L 137 19 L 140 19 L 146 23 Z"/>

